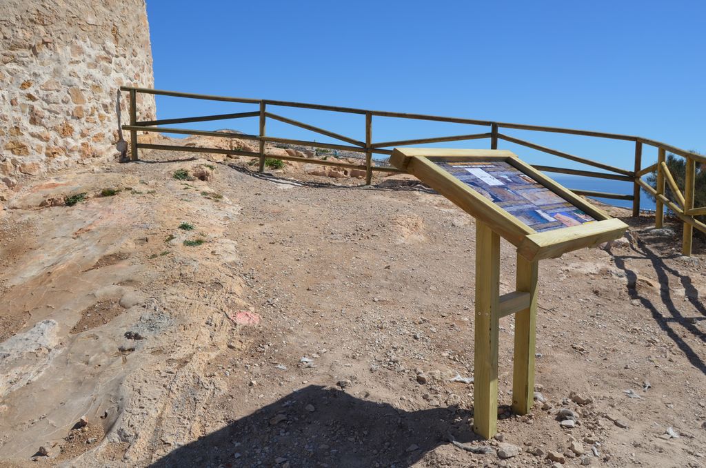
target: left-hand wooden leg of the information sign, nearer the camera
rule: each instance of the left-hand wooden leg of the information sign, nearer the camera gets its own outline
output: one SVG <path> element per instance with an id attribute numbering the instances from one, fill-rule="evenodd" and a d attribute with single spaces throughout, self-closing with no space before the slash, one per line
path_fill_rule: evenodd
<path id="1" fill-rule="evenodd" d="M 491 438 L 498 427 L 500 236 L 476 221 L 476 313 L 473 431 Z"/>

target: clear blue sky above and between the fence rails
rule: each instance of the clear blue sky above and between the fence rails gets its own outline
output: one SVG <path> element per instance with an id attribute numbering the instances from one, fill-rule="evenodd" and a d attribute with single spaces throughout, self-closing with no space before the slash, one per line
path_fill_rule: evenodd
<path id="1" fill-rule="evenodd" d="M 702 1 L 148 0 L 148 18 L 158 89 L 594 129 L 706 151 Z M 157 101 L 160 118 L 245 110 L 255 108 Z M 361 116 L 274 111 L 364 139 Z M 256 133 L 257 121 L 188 127 Z M 375 141 L 482 131 L 373 121 Z M 506 132 L 632 169 L 631 143 Z M 278 123 L 268 133 L 327 141 Z M 656 153 L 646 149 L 645 163 Z"/>

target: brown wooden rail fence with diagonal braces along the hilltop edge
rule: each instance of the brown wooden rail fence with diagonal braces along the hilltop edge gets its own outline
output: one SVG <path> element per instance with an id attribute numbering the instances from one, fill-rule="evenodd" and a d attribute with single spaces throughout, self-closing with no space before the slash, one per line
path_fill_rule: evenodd
<path id="1" fill-rule="evenodd" d="M 460 117 L 442 117 L 438 115 L 421 115 L 421 114 L 408 114 L 402 112 L 385 112 L 379 110 L 364 110 L 356 109 L 353 107 L 338 107 L 331 105 L 318 105 L 318 104 L 306 104 L 306 103 L 293 103 L 289 101 L 282 100 L 264 100 L 264 99 L 249 99 L 249 98 L 231 98 L 227 96 L 215 96 L 215 95 L 203 95 L 203 94 L 193 94 L 193 93 L 179 93 L 176 91 L 165 91 L 165 90 L 155 90 L 149 88 L 133 88 L 130 86 L 121 86 L 121 91 L 126 91 L 129 95 L 130 103 L 130 124 L 123 125 L 122 129 L 130 131 L 130 158 L 131 160 L 138 160 L 138 149 L 157 149 L 157 150 L 169 150 L 169 151 L 187 151 L 190 153 L 201 152 L 201 153 L 222 153 L 234 156 L 250 156 L 259 159 L 259 170 L 262 172 L 265 170 L 265 158 L 272 157 L 283 160 L 293 160 L 303 163 L 313 163 L 321 165 L 337 166 L 342 168 L 353 168 L 361 169 L 366 171 L 366 184 L 370 185 L 372 180 L 373 171 L 380 172 L 401 172 L 395 168 L 381 165 L 373 161 L 373 154 L 390 155 L 392 153 L 392 148 L 397 146 L 410 146 L 410 145 L 420 145 L 420 144 L 431 144 L 431 143 L 444 143 L 448 141 L 470 141 L 477 139 L 490 139 L 491 149 L 498 148 L 498 141 L 508 141 L 513 144 L 520 146 L 525 146 L 527 148 L 532 148 L 543 153 L 551 154 L 553 156 L 558 156 L 559 158 L 564 158 L 568 160 L 575 161 L 577 163 L 582 163 L 593 168 L 601 169 L 604 172 L 597 172 L 593 170 L 578 170 L 571 168 L 561 168 L 546 165 L 534 165 L 534 168 L 542 170 L 544 172 L 555 172 L 561 174 L 579 175 L 582 177 L 594 177 L 597 179 L 610 179 L 610 180 L 621 180 L 624 182 L 633 183 L 633 194 L 614 194 L 605 192 L 595 192 L 592 190 L 579 190 L 573 189 L 573 192 L 585 195 L 587 197 L 601 197 L 606 199 L 622 199 L 630 200 L 633 202 L 633 216 L 639 216 L 640 214 L 640 188 L 645 189 L 650 192 L 657 199 L 657 210 L 655 214 L 655 226 L 662 227 L 664 222 L 664 208 L 669 208 L 674 214 L 681 219 L 684 223 L 683 230 L 683 243 L 682 243 L 682 253 L 683 255 L 691 255 L 691 246 L 693 238 L 693 229 L 696 228 L 703 233 L 706 233 L 706 224 L 701 223 L 695 219 L 695 216 L 706 215 L 706 207 L 694 207 L 694 181 L 696 174 L 696 164 L 706 165 L 706 157 L 698 153 L 693 153 L 691 151 L 686 151 L 681 148 L 676 148 L 676 146 L 671 146 L 664 144 L 661 141 L 654 141 L 650 139 L 642 138 L 641 136 L 630 136 L 621 135 L 614 133 L 606 133 L 602 131 L 588 131 L 588 130 L 577 130 L 577 129 L 565 129 L 560 127 L 544 127 L 539 125 L 527 125 L 527 124 L 512 124 L 508 122 L 492 122 L 489 120 L 477 120 L 477 119 L 465 119 Z M 158 119 L 158 120 L 148 120 L 143 122 L 138 122 L 137 120 L 137 100 L 136 95 L 138 93 L 152 94 L 152 95 L 162 95 L 162 96 L 172 96 L 175 98 L 189 98 L 189 99 L 201 99 L 201 100 L 213 100 L 221 101 L 227 103 L 244 103 L 258 106 L 258 110 L 253 110 L 251 112 L 237 112 L 232 114 L 220 114 L 220 115 L 204 115 L 201 117 L 184 117 L 179 119 Z M 328 112 L 344 112 L 347 114 L 357 114 L 365 116 L 365 141 L 359 141 L 349 136 L 337 134 L 333 131 L 328 131 L 319 127 L 314 127 L 313 125 L 306 124 L 304 122 L 299 122 L 294 119 L 289 119 L 283 117 L 282 115 L 277 115 L 272 112 L 268 112 L 268 105 L 271 107 L 299 107 L 304 109 L 322 110 Z M 240 119 L 246 117 L 258 117 L 259 119 L 259 134 L 229 134 L 222 131 L 203 131 L 196 129 L 175 129 L 170 127 L 160 127 L 160 125 L 168 124 L 186 124 L 190 122 L 209 122 L 224 119 Z M 396 117 L 400 119 L 417 119 L 425 120 L 428 122 L 448 122 L 455 124 L 468 124 L 472 126 L 487 127 L 490 131 L 472 134 L 461 134 L 453 136 L 438 136 L 435 138 L 422 138 L 422 139 L 411 139 L 411 140 L 400 140 L 400 141 L 378 141 L 373 143 L 373 117 Z M 277 120 L 279 122 L 284 122 L 286 124 L 293 125 L 294 127 L 299 127 L 309 131 L 313 131 L 317 134 L 325 135 L 333 139 L 337 139 L 346 144 L 328 144 L 317 141 L 305 141 L 297 139 L 286 139 L 277 138 L 275 136 L 269 136 L 265 134 L 267 119 Z M 515 136 L 510 136 L 508 134 L 501 133 L 501 129 L 517 129 L 517 130 L 529 130 L 529 131 L 540 131 L 540 132 L 550 132 L 550 133 L 561 133 L 561 134 L 571 134 L 580 136 L 590 136 L 600 139 L 612 139 L 612 140 L 622 140 L 622 141 L 633 141 L 635 143 L 635 155 L 634 155 L 634 165 L 630 169 L 616 168 L 612 165 L 599 163 L 588 158 L 582 158 L 580 156 L 575 156 L 570 153 L 565 153 L 564 151 L 558 151 L 553 148 L 546 148 L 539 144 L 534 144 L 530 141 L 525 141 L 518 139 Z M 222 148 L 202 148 L 193 146 L 178 146 L 178 145 L 161 145 L 161 144 L 146 144 L 138 142 L 138 131 L 154 131 L 163 134 L 183 134 L 183 135 L 199 135 L 199 136 L 217 136 L 221 138 L 234 138 L 234 139 L 246 139 L 254 140 L 259 142 L 259 151 L 241 151 L 241 150 L 230 150 Z M 290 144 L 299 146 L 310 146 L 313 148 L 328 148 L 340 151 L 353 151 L 357 153 L 365 154 L 364 164 L 352 164 L 344 163 L 336 160 L 323 160 L 316 158 L 300 158 L 297 156 L 275 156 L 270 155 L 265 151 L 266 143 L 272 144 Z M 658 150 L 658 160 L 657 163 L 642 167 L 642 148 L 643 146 L 652 146 Z M 666 152 L 669 151 L 678 156 L 682 156 L 686 159 L 686 177 L 685 177 L 685 187 L 682 190 L 677 187 L 674 177 L 669 172 L 665 163 Z M 653 189 L 648 185 L 642 177 L 648 173 L 656 170 L 657 171 L 657 189 Z M 668 199 L 665 195 L 665 182 L 669 184 L 671 192 L 676 197 L 676 203 Z"/>

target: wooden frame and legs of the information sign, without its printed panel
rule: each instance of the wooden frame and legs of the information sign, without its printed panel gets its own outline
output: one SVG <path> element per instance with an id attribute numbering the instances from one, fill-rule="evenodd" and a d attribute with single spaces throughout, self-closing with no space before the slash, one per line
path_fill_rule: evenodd
<path id="1" fill-rule="evenodd" d="M 538 233 L 436 161 L 505 161 L 596 221 Z M 619 238 L 628 225 L 546 177 L 511 151 L 449 148 L 395 148 L 390 163 L 416 176 L 476 218 L 476 308 L 474 323 L 473 430 L 491 438 L 498 419 L 498 332 L 500 319 L 515 314 L 513 411 L 527 414 L 534 404 L 534 352 L 539 260 Z M 500 294 L 500 238 L 517 247 L 515 291 Z"/>

